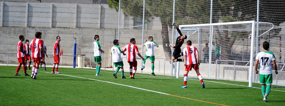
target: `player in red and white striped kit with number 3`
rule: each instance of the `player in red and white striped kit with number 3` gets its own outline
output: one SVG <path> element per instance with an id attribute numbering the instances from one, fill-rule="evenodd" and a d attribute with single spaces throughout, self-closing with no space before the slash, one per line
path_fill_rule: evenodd
<path id="1" fill-rule="evenodd" d="M 30 50 L 34 62 L 31 75 L 32 79 L 36 79 L 36 75 L 38 74 L 38 66 L 40 66 L 40 60 L 43 52 L 43 44 L 42 40 L 40 40 L 40 38 L 42 38 L 42 32 L 36 32 L 35 37 L 36 38 L 30 42 Z"/>

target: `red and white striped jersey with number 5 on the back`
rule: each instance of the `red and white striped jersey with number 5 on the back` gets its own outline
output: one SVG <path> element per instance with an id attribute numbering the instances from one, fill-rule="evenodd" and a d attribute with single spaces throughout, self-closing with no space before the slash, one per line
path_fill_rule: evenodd
<path id="1" fill-rule="evenodd" d="M 186 65 L 198 64 L 196 54 L 199 54 L 198 50 L 194 46 L 187 46 L 183 49 L 183 54 L 186 55 Z"/>

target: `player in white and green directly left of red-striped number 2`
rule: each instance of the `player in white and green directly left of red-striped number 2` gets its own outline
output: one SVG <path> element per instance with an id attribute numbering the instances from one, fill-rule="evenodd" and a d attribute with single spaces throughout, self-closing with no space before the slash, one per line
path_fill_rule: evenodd
<path id="1" fill-rule="evenodd" d="M 124 51 L 121 51 L 120 47 L 119 47 L 119 40 L 114 40 L 113 41 L 114 45 L 112 48 L 111 48 L 111 54 L 112 54 L 112 59 L 113 59 L 113 62 L 114 62 L 114 66 L 117 67 L 115 73 L 113 73 L 113 76 L 115 78 L 117 78 L 117 73 L 118 71 L 120 70 L 121 68 L 121 74 L 122 74 L 122 77 L 123 79 L 125 79 L 126 77 L 124 76 L 124 63 L 123 63 L 123 59 L 121 58 L 121 53 L 123 53 L 123 55 L 126 55 Z"/>

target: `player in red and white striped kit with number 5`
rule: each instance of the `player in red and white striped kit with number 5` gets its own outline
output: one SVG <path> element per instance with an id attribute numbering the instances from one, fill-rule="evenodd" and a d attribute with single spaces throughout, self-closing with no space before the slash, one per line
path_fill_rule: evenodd
<path id="1" fill-rule="evenodd" d="M 202 88 L 205 88 L 203 78 L 201 74 L 199 73 L 199 65 L 200 65 L 199 52 L 196 47 L 191 46 L 191 45 L 192 45 L 192 41 L 188 40 L 187 47 L 183 49 L 185 74 L 184 74 L 184 85 L 181 87 L 182 88 L 187 87 L 188 72 L 191 71 L 192 68 L 194 68 L 198 78 L 200 79 L 200 82 L 202 83 Z"/>

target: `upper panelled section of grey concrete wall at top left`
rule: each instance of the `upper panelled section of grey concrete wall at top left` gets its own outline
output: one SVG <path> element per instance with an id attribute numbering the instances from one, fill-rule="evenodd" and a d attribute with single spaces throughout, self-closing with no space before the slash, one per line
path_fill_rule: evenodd
<path id="1" fill-rule="evenodd" d="M 0 2 L 1 26 L 118 28 L 107 4 Z"/>

